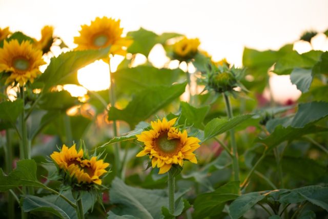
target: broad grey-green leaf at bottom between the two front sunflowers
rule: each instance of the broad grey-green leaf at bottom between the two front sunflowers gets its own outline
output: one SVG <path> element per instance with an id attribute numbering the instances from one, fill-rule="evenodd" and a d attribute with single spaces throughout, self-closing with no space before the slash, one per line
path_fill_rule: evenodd
<path id="1" fill-rule="evenodd" d="M 186 191 L 185 191 L 186 192 Z M 175 194 L 178 200 L 185 192 Z M 140 189 L 127 186 L 115 178 L 110 189 L 111 203 L 115 208 L 111 211 L 116 215 L 133 215 L 136 218 L 160 218 L 161 207 L 168 207 L 169 199 L 166 189 Z"/>

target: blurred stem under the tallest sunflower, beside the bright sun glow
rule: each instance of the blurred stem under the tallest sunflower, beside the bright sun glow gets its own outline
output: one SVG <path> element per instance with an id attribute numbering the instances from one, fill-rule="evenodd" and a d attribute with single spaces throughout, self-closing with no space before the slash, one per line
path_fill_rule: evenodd
<path id="1" fill-rule="evenodd" d="M 114 77 L 112 76 L 112 70 L 111 70 L 111 58 L 108 58 L 108 67 L 109 67 L 109 78 L 110 78 L 110 89 L 109 91 L 109 99 L 110 99 L 110 103 L 111 103 L 111 107 L 115 107 L 115 81 L 114 81 Z M 113 134 L 114 137 L 118 136 L 118 132 L 117 132 L 117 124 L 116 124 L 116 120 L 113 120 Z M 122 173 L 121 173 L 121 169 L 120 169 L 120 145 L 119 143 L 115 143 L 114 144 L 114 162 L 115 162 L 115 172 L 116 172 L 116 176 L 121 178 Z"/>

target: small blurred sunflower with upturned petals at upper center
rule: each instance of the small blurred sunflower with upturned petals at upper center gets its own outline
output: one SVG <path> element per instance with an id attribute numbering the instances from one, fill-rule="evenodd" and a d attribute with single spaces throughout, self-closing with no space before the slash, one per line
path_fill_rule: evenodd
<path id="1" fill-rule="evenodd" d="M 182 38 L 179 42 L 173 45 L 174 57 L 179 61 L 186 61 L 193 58 L 198 51 L 199 44 L 200 42 L 198 38 Z"/>

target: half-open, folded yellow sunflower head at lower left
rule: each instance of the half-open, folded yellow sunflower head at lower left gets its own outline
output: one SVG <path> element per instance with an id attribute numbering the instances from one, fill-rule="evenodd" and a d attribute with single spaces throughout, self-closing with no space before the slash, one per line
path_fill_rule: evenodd
<path id="1" fill-rule="evenodd" d="M 101 185 L 100 177 L 107 172 L 109 166 L 109 163 L 97 160 L 95 156 L 90 160 L 84 158 L 83 149 L 77 152 L 75 144 L 71 148 L 63 145 L 60 152 L 53 152 L 50 157 L 59 169 L 64 170 L 64 174 L 74 178 L 78 184 Z"/>

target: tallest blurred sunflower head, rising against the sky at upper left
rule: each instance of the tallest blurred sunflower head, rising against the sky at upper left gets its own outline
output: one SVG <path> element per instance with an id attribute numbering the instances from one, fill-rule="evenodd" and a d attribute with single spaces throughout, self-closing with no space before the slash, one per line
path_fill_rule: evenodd
<path id="1" fill-rule="evenodd" d="M 77 44 L 76 50 L 100 49 L 111 46 L 110 53 L 125 55 L 124 47 L 131 45 L 132 40 L 121 37 L 123 28 L 119 27 L 120 20 L 108 17 L 96 17 L 91 25 L 82 25 L 79 31 L 80 36 L 74 37 L 74 43 Z"/>

